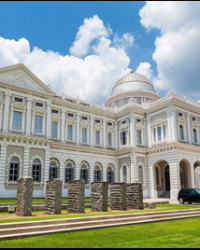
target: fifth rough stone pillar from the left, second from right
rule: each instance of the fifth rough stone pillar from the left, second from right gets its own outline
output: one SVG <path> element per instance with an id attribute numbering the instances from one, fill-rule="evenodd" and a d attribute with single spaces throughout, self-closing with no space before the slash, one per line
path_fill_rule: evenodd
<path id="1" fill-rule="evenodd" d="M 113 182 L 110 184 L 110 209 L 126 210 L 125 182 Z"/>

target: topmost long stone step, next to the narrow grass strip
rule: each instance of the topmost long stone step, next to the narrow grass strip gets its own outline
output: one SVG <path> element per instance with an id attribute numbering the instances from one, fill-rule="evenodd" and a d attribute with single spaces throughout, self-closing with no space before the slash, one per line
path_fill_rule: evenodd
<path id="1" fill-rule="evenodd" d="M 0 231 L 8 228 L 20 228 L 20 227 L 31 227 L 31 226 L 47 226 L 51 224 L 66 224 L 66 223 L 76 223 L 84 221 L 96 221 L 96 220 L 113 220 L 118 218 L 133 218 L 133 217 L 148 217 L 152 215 L 168 215 L 174 213 L 194 213 L 200 212 L 200 209 L 187 209 L 187 210 L 171 210 L 171 211 L 161 211 L 161 212 L 149 212 L 149 213 L 135 213 L 135 214 L 119 214 L 119 215 L 105 215 L 105 216 L 91 216 L 91 217 L 78 217 L 69 219 L 54 219 L 54 220 L 42 220 L 42 221 L 28 221 L 28 222 L 18 222 L 18 223 L 3 223 L 0 224 Z"/>

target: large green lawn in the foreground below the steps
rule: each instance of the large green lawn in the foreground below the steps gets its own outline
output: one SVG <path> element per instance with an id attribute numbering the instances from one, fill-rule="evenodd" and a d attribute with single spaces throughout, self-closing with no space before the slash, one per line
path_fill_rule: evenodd
<path id="1" fill-rule="evenodd" d="M 200 217 L 1 241 L 1 248 L 199 248 Z"/>

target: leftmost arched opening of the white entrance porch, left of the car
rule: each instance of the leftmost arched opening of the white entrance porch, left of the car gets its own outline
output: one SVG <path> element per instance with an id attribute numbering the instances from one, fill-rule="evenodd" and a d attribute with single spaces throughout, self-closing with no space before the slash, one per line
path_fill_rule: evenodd
<path id="1" fill-rule="evenodd" d="M 156 198 L 170 198 L 170 169 L 165 160 L 154 164 L 154 189 Z"/>

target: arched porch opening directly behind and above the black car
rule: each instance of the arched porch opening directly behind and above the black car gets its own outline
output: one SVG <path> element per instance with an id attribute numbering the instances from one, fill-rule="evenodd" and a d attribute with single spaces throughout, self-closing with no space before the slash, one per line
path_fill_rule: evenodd
<path id="1" fill-rule="evenodd" d="M 181 188 L 191 188 L 190 163 L 183 159 L 180 161 L 180 185 Z"/>

